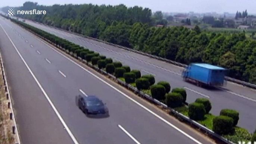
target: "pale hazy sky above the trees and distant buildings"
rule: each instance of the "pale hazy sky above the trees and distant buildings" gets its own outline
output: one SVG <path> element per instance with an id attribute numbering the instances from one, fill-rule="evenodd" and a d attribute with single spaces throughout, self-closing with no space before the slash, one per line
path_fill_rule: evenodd
<path id="1" fill-rule="evenodd" d="M 230 12 L 247 9 L 249 13 L 256 13 L 256 0 L 1 0 L 0 7 L 22 6 L 25 1 L 37 2 L 40 5 L 53 4 L 111 4 L 123 3 L 126 6 L 149 7 L 153 11 L 162 12 Z"/>

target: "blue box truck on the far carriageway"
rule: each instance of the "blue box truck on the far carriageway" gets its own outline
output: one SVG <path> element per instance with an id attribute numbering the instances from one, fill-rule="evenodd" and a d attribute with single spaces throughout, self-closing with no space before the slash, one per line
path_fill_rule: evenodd
<path id="1" fill-rule="evenodd" d="M 191 63 L 182 71 L 184 81 L 195 82 L 198 86 L 224 86 L 228 69 L 207 63 Z"/>

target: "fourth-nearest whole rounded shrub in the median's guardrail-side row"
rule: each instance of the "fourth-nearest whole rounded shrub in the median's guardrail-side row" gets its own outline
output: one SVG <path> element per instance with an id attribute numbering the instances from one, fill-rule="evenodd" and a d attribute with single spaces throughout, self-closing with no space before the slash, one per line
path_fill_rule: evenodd
<path id="1" fill-rule="evenodd" d="M 152 85 L 150 87 L 150 92 L 152 98 L 157 100 L 165 100 L 165 87 L 163 85 Z"/>

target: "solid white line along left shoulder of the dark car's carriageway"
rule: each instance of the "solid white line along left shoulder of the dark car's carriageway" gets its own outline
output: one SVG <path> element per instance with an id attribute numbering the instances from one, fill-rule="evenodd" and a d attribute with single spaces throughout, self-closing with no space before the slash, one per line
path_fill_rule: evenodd
<path id="1" fill-rule="evenodd" d="M 72 134 L 72 132 L 70 131 L 70 129 L 68 128 L 68 126 L 66 125 L 65 121 L 63 120 L 62 116 L 60 115 L 60 113 L 58 112 L 58 110 L 56 109 L 56 107 L 54 106 L 53 102 L 50 100 L 49 96 L 47 95 L 47 93 L 45 92 L 44 88 L 41 86 L 40 82 L 37 80 L 37 78 L 35 77 L 34 73 L 31 71 L 31 69 L 29 68 L 28 64 L 26 63 L 26 61 L 24 60 L 24 58 L 22 57 L 21 53 L 19 53 L 19 50 L 16 48 L 15 44 L 13 43 L 13 41 L 11 40 L 11 38 L 9 37 L 9 35 L 6 33 L 6 31 L 4 30 L 3 26 L 0 24 L 1 28 L 3 29 L 4 33 L 7 35 L 7 37 L 9 38 L 10 42 L 12 43 L 13 47 L 15 48 L 15 50 L 17 51 L 17 53 L 19 54 L 19 57 L 21 57 L 22 61 L 24 62 L 24 64 L 26 65 L 26 68 L 28 69 L 28 71 L 31 73 L 31 75 L 33 76 L 33 78 L 35 79 L 35 82 L 37 82 L 38 87 L 41 89 L 41 91 L 43 92 L 44 96 L 46 97 L 46 99 L 48 100 L 48 102 L 50 103 L 51 107 L 53 108 L 54 112 L 56 113 L 56 115 L 58 116 L 58 118 L 60 119 L 60 122 L 62 123 L 62 125 L 64 126 L 64 128 L 66 129 L 66 131 L 68 132 L 69 136 L 71 137 L 71 139 L 73 140 L 73 142 L 75 144 L 79 144 L 78 141 L 76 140 L 76 138 L 74 137 L 74 135 Z"/>

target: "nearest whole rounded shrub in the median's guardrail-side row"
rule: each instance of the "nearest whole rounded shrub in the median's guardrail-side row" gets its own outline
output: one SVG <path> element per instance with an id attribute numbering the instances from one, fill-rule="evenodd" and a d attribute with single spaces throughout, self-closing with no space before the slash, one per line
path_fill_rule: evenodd
<path id="1" fill-rule="evenodd" d="M 228 116 L 216 116 L 213 119 L 212 130 L 219 135 L 229 134 L 234 130 L 233 119 Z"/>

